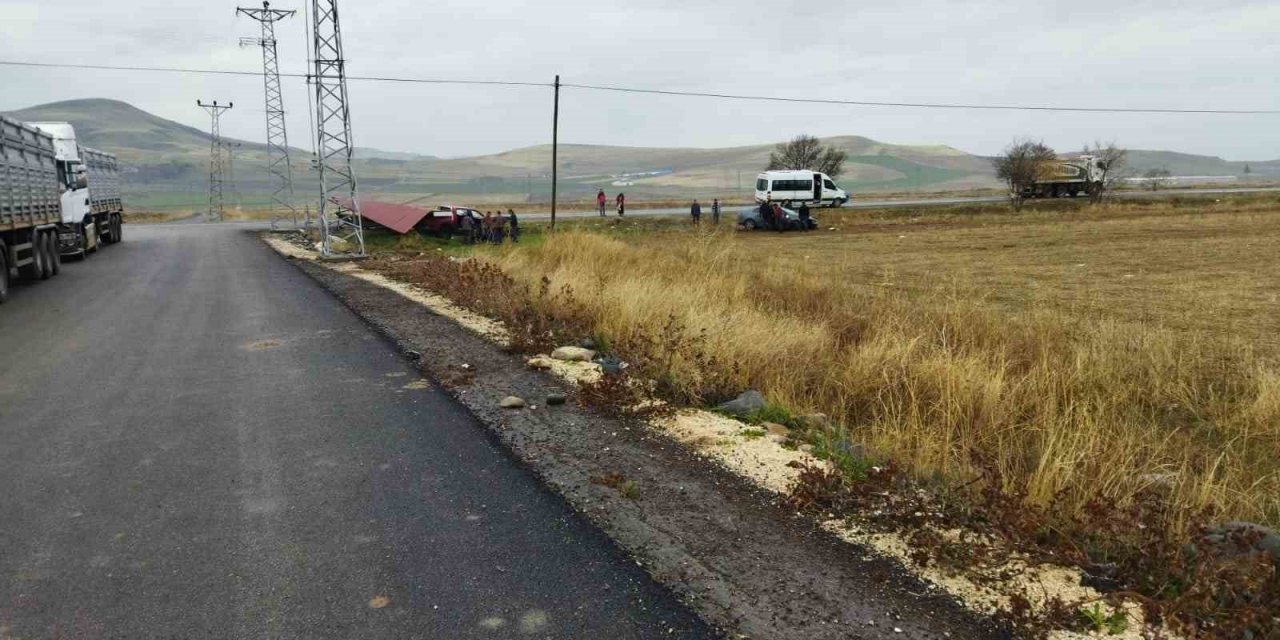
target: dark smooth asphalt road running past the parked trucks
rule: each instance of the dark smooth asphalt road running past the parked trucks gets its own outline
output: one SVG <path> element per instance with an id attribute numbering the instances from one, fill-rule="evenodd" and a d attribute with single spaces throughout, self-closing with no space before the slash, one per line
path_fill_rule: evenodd
<path id="1" fill-rule="evenodd" d="M 0 637 L 708 637 L 238 225 L 0 306 Z"/>

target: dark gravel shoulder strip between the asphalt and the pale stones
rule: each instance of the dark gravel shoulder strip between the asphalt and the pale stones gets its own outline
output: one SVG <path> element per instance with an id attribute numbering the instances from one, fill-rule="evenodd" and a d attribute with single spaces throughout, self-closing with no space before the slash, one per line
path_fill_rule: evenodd
<path id="1" fill-rule="evenodd" d="M 666 434 L 577 406 L 571 387 L 454 320 L 325 265 L 292 262 L 394 342 L 549 488 L 728 636 L 1009 636 L 896 562 L 840 540 Z M 544 406 L 552 393 L 570 402 Z M 507 396 L 530 406 L 499 408 Z M 625 479 L 630 489 L 593 483 L 605 476 Z"/>

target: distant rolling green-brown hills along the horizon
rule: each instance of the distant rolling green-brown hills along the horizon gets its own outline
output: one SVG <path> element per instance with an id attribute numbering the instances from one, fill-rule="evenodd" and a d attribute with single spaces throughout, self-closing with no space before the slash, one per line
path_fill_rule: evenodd
<path id="1" fill-rule="evenodd" d="M 106 99 L 69 100 L 6 115 L 27 122 L 70 122 L 87 146 L 116 154 L 125 165 L 127 195 L 138 207 L 200 207 L 207 183 L 209 134 Z M 298 133 L 296 133 L 297 136 Z M 273 184 L 266 147 L 238 142 L 234 202 L 266 202 Z M 959 189 L 996 186 L 989 159 L 947 146 L 905 146 L 860 136 L 824 138 L 847 154 L 840 183 L 854 191 Z M 742 196 L 767 164 L 773 145 L 726 148 L 561 145 L 561 192 L 585 197 L 596 188 L 626 188 L 632 198 Z M 298 191 L 315 188 L 307 152 L 294 150 Z M 550 192 L 550 146 L 500 154 L 438 159 L 358 147 L 355 169 L 365 193 L 387 200 L 426 198 L 483 202 L 541 201 Z M 1280 177 L 1280 160 L 1248 163 L 1258 177 Z M 1135 173 L 1167 168 L 1178 175 L 1240 175 L 1245 163 L 1172 151 L 1132 151 Z"/>

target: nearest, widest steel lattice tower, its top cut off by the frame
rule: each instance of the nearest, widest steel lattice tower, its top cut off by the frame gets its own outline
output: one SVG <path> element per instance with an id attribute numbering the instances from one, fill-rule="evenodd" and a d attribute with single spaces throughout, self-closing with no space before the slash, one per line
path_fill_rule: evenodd
<path id="1" fill-rule="evenodd" d="M 311 0 L 315 41 L 316 155 L 320 170 L 321 253 L 365 256 L 364 219 L 356 174 L 351 169 L 351 111 L 347 106 L 347 61 L 342 58 L 338 0 Z"/>

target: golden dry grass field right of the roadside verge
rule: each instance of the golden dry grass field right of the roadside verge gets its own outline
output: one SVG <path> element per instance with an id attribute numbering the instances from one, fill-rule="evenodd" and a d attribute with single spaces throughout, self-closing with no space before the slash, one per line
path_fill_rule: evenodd
<path id="1" fill-rule="evenodd" d="M 1208 506 L 1280 524 L 1280 198 L 820 219 L 485 255 L 570 287 L 544 312 L 620 352 L 696 343 L 658 372 L 685 399 L 758 388 L 923 480 L 965 481 L 977 452 L 1064 512 L 1155 483 L 1175 530 Z"/>

